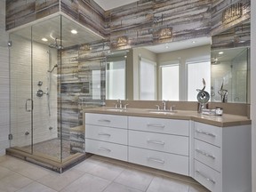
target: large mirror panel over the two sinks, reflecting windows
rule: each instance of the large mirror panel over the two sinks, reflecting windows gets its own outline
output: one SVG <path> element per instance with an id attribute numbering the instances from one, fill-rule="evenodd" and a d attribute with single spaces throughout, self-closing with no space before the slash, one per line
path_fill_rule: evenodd
<path id="1" fill-rule="evenodd" d="M 210 37 L 202 37 L 136 47 L 123 55 L 112 52 L 107 56 L 106 99 L 196 101 L 196 89 L 201 88 L 203 78 L 207 92 L 211 90 L 210 41 Z M 124 62 L 124 56 L 122 74 L 115 60 Z"/>

